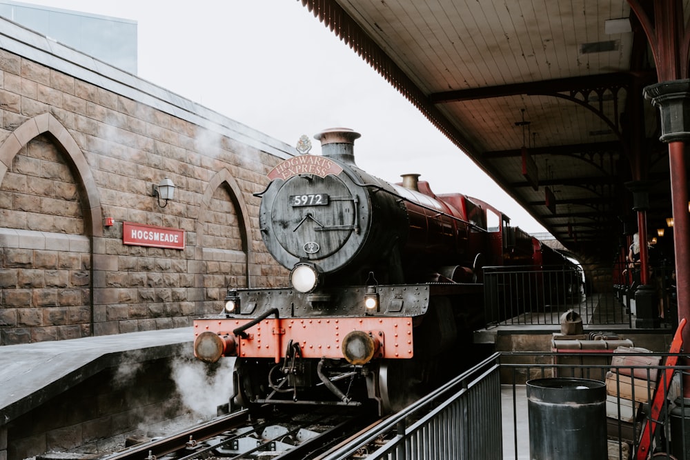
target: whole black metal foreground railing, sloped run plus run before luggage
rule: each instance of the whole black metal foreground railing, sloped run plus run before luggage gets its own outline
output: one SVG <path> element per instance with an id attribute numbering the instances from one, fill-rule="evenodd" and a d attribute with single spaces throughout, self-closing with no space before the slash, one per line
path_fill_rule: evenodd
<path id="1" fill-rule="evenodd" d="M 671 356 L 689 358 L 600 350 L 497 353 L 324 458 L 531 459 L 526 382 L 575 378 L 606 386 L 606 420 L 588 421 L 606 423 L 608 452 L 601 458 L 646 458 L 636 457 L 646 434 L 646 452 L 690 459 L 690 418 L 683 417 L 690 417 L 690 407 L 680 378 L 690 368 L 664 366 Z M 651 410 L 655 392 L 663 401 L 658 414 Z"/>

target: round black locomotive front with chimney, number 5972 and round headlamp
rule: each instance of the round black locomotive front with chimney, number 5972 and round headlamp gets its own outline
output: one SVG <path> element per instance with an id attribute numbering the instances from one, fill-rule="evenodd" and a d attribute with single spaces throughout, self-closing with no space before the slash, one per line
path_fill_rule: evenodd
<path id="1" fill-rule="evenodd" d="M 266 248 L 293 270 L 292 286 L 362 285 L 369 272 L 380 282 L 402 283 L 399 261 L 408 231 L 404 206 L 391 184 L 355 166 L 359 134 L 328 130 L 317 136 L 322 156 L 279 164 L 262 196 L 259 225 Z"/>

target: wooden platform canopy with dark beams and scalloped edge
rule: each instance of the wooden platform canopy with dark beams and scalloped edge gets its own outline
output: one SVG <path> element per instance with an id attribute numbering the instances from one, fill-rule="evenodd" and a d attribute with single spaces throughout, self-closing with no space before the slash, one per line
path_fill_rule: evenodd
<path id="1" fill-rule="evenodd" d="M 654 61 L 626 0 L 302 3 L 569 250 L 611 260 L 637 228 L 633 180 L 649 234 L 671 238 Z"/>

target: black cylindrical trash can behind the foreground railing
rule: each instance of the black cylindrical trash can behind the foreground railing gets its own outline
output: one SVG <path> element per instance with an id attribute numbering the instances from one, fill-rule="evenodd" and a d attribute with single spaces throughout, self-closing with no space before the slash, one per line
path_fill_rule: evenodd
<path id="1" fill-rule="evenodd" d="M 604 382 L 533 379 L 526 386 L 531 460 L 607 460 Z"/>

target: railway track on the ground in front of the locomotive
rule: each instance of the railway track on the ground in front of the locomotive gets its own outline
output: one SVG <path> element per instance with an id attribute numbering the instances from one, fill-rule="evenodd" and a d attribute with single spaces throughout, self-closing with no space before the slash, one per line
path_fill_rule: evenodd
<path id="1" fill-rule="evenodd" d="M 315 459 L 379 420 L 362 411 L 241 410 L 101 460 Z"/>

